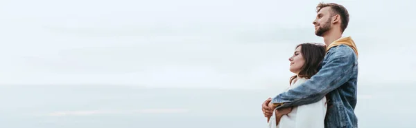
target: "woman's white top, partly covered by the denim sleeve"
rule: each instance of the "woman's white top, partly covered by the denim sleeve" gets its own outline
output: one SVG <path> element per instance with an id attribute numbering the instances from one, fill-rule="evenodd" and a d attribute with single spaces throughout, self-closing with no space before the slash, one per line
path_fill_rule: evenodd
<path id="1" fill-rule="evenodd" d="M 306 78 L 297 78 L 297 81 L 288 89 L 293 89 L 306 80 Z M 324 128 L 324 118 L 327 113 L 326 102 L 327 98 L 324 97 L 316 103 L 293 107 L 291 113 L 281 116 L 277 126 L 274 111 L 268 122 L 269 128 Z"/>

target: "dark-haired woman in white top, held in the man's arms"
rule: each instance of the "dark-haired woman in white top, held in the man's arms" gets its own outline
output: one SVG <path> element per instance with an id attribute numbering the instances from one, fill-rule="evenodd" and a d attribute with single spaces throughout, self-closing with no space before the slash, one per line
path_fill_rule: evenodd
<path id="1" fill-rule="evenodd" d="M 291 61 L 292 76 L 288 89 L 293 89 L 318 72 L 321 61 L 324 59 L 326 46 L 317 43 L 302 43 L 296 46 Z M 287 90 L 286 90 L 287 91 Z M 270 128 L 324 128 L 324 118 L 327 112 L 327 99 L 324 97 L 316 103 L 300 105 L 293 108 L 276 110 L 268 118 Z M 269 103 L 269 107 L 272 104 Z"/>

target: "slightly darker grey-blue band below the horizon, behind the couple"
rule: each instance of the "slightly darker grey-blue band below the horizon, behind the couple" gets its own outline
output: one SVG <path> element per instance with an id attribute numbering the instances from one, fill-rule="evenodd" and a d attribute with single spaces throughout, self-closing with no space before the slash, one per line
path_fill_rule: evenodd
<path id="1" fill-rule="evenodd" d="M 266 127 L 261 103 L 283 90 L 0 86 L 0 127 Z M 414 96 L 397 87 L 358 87 L 358 126 L 413 127 Z"/>

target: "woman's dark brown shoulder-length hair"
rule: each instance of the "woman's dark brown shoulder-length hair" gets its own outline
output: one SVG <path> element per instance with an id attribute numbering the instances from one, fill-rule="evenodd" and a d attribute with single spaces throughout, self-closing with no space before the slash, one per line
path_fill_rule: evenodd
<path id="1" fill-rule="evenodd" d="M 300 53 L 304 57 L 305 63 L 302 65 L 300 72 L 297 75 L 302 78 L 311 78 L 318 73 L 320 64 L 326 54 L 327 46 L 319 43 L 302 43 L 297 45 L 296 48 L 299 46 L 301 46 Z M 291 80 L 289 81 L 290 84 L 297 78 L 297 75 L 291 77 Z"/>

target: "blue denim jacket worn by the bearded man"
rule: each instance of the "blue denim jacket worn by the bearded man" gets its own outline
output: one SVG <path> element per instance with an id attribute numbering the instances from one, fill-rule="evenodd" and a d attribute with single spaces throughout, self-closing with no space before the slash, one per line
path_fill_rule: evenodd
<path id="1" fill-rule="evenodd" d="M 356 128 L 354 113 L 357 103 L 357 56 L 351 47 L 331 47 L 320 71 L 298 87 L 272 98 L 279 107 L 293 107 L 318 102 L 327 96 L 326 128 Z"/>

